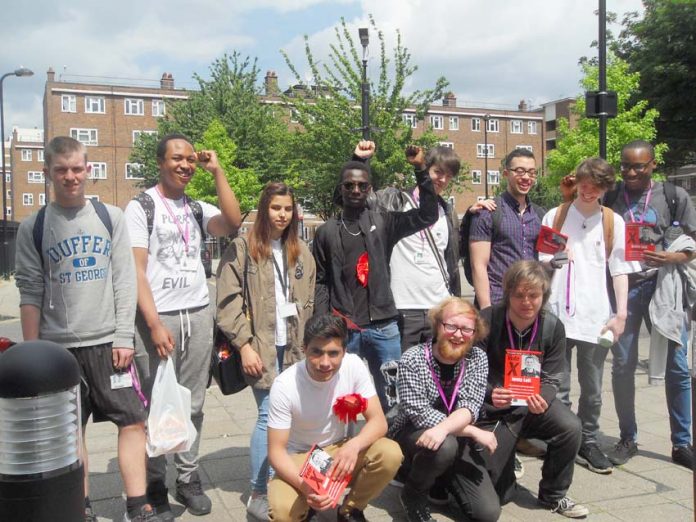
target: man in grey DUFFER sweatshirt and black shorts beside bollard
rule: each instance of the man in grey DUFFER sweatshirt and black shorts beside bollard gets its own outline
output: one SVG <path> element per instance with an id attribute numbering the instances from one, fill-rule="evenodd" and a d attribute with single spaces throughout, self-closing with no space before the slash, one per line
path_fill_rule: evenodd
<path id="1" fill-rule="evenodd" d="M 56 137 L 44 157 L 55 201 L 24 220 L 17 237 L 15 277 L 24 340 L 51 340 L 75 356 L 82 374 L 83 423 L 93 412 L 95 420 L 118 426 L 124 520 L 159 521 L 145 495 L 146 413 L 131 370 L 135 265 L 123 212 L 85 198 L 91 166 L 80 142 Z M 84 469 L 85 521 L 96 521 L 86 447 Z"/>

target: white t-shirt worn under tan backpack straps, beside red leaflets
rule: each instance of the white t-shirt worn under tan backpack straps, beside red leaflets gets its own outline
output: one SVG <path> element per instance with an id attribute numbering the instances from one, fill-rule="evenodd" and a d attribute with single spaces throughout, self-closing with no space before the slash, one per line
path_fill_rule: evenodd
<path id="1" fill-rule="evenodd" d="M 553 226 L 557 210 L 558 208 L 550 210 L 542 223 L 548 227 Z M 598 211 L 585 219 L 575 205 L 570 205 L 561 232 L 568 236 L 573 263 L 553 271 L 549 307 L 563 322 L 568 339 L 596 343 L 602 327 L 612 316 L 606 290 L 602 213 Z M 640 271 L 639 263 L 625 261 L 624 235 L 624 220 L 614 213 L 614 246 L 609 256 L 609 272 L 612 276 Z M 540 253 L 539 261 L 549 261 L 552 257 L 550 254 Z"/>

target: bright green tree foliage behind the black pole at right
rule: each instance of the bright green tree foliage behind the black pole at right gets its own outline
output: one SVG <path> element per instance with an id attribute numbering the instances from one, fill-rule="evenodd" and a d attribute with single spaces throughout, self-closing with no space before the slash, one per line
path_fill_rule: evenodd
<path id="1" fill-rule="evenodd" d="M 607 122 L 607 161 L 618 167 L 624 144 L 636 139 L 654 141 L 658 111 L 648 108 L 646 100 L 635 100 L 640 74 L 631 73 L 628 64 L 614 55 L 610 54 L 607 62 L 607 88 L 616 91 L 618 97 L 618 114 Z M 585 61 L 581 67 L 584 72 L 580 82 L 583 92 L 596 91 L 599 85 L 597 66 Z M 629 104 L 631 99 L 633 103 Z M 579 116 L 574 128 L 570 128 L 565 118 L 559 118 L 557 122 L 556 148 L 547 156 L 548 179 L 541 184 L 542 187 L 557 186 L 560 178 L 574 171 L 582 160 L 599 154 L 599 120 L 585 117 L 584 94 L 577 98 L 573 110 Z M 658 162 L 665 149 L 664 144 L 655 147 Z"/>

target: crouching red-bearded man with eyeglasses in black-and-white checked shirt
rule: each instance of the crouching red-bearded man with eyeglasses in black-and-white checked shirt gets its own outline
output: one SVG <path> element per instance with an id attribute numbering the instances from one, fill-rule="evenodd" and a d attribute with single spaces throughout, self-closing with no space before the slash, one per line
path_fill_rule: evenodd
<path id="1" fill-rule="evenodd" d="M 428 317 L 432 340 L 410 348 L 399 362 L 399 413 L 389 434 L 406 457 L 401 503 L 409 522 L 433 521 L 428 491 L 460 459 L 460 487 L 450 489 L 466 519 L 498 520 L 500 503 L 481 456 L 482 447 L 495 451 L 496 438 L 473 426 L 488 376 L 486 354 L 474 345 L 487 328 L 460 297 L 444 299 Z"/>

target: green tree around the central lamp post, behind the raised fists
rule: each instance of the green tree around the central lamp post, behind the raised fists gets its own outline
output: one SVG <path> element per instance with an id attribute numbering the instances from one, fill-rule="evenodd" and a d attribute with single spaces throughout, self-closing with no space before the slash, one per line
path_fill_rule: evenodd
<path id="1" fill-rule="evenodd" d="M 391 57 L 379 31 L 370 18 L 372 34 L 379 43 L 379 72 L 370 81 L 370 125 L 375 128 L 372 139 L 377 153 L 370 161 L 376 187 L 410 181 L 412 169 L 406 162 L 406 145 L 417 142 L 424 146 L 435 143 L 432 132 L 414 140 L 413 129 L 403 121 L 407 108 L 415 108 L 416 117 L 423 119 L 428 106 L 441 99 L 447 81 L 435 80 L 432 89 L 403 92 L 408 78 L 417 70 L 411 64 L 411 54 L 396 32 L 396 45 Z M 374 44 L 373 44 L 374 45 Z M 305 37 L 305 58 L 311 72 L 311 84 L 306 85 L 298 69 L 283 52 L 299 88 L 292 89 L 285 102 L 300 126 L 293 136 L 290 158 L 293 184 L 304 198 L 305 206 L 328 218 L 335 213 L 332 195 L 338 181 L 340 166 L 361 138 L 362 49 L 356 47 L 345 20 L 335 28 L 335 41 L 330 46 L 328 63 L 318 62 Z M 403 174 L 403 175 L 402 175 Z"/>

